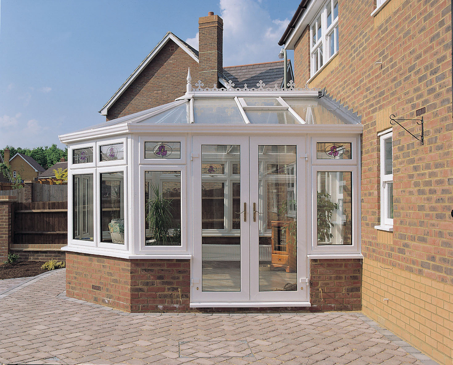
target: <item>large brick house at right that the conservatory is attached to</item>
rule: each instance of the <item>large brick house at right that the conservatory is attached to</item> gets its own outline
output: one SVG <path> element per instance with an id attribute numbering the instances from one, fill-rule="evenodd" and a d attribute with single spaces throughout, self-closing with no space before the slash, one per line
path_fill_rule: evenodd
<path id="1" fill-rule="evenodd" d="M 453 349 L 451 29 L 446 1 L 303 0 L 279 43 L 297 86 L 361 115 L 363 312 L 441 364 Z"/>

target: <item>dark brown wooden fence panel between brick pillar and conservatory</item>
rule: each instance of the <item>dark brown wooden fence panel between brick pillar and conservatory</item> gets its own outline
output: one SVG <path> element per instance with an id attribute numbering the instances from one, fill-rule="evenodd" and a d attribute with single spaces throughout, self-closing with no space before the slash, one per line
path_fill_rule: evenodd
<path id="1" fill-rule="evenodd" d="M 11 252 L 20 259 L 64 259 L 60 249 L 67 245 L 67 202 L 17 202 L 13 206 Z"/>

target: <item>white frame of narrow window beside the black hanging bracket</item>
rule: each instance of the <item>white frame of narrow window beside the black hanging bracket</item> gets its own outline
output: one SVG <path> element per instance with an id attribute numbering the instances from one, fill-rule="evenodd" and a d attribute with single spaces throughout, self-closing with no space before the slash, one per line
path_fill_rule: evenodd
<path id="1" fill-rule="evenodd" d="M 380 143 L 380 181 L 381 181 L 381 224 L 379 226 L 375 226 L 376 229 L 383 230 L 383 231 L 393 231 L 393 218 L 388 217 L 388 210 L 389 204 L 388 201 L 388 189 L 389 183 L 393 184 L 393 167 L 392 173 L 386 174 L 386 160 L 385 160 L 385 141 L 386 139 L 392 139 L 393 145 L 393 133 L 392 130 L 386 130 L 378 134 L 379 136 L 379 143 Z M 393 150 L 392 150 L 392 162 L 393 162 Z M 393 204 L 393 202 L 392 202 Z"/>

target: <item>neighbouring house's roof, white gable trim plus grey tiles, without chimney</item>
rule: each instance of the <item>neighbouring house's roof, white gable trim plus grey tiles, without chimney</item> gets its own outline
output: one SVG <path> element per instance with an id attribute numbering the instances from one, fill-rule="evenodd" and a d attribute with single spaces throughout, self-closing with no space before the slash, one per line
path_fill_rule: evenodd
<path id="1" fill-rule="evenodd" d="M 101 115 L 107 115 L 110 107 L 115 104 L 115 102 L 123 94 L 123 92 L 126 91 L 126 89 L 132 84 L 132 82 L 134 82 L 134 80 L 140 75 L 145 67 L 148 66 L 149 62 L 153 60 L 153 58 L 160 52 L 160 50 L 165 46 L 165 44 L 167 44 L 169 40 L 172 40 L 196 62 L 199 62 L 198 51 L 195 48 L 184 42 L 181 38 L 177 37 L 172 32 L 167 32 L 164 38 L 160 40 L 160 42 L 153 48 L 148 56 L 146 56 L 146 58 L 140 63 L 140 65 L 134 70 L 134 72 L 132 72 L 132 74 L 120 86 L 115 94 L 113 94 L 110 100 L 107 101 L 107 103 L 101 108 L 101 110 L 99 110 L 99 113 L 101 113 Z M 227 86 L 227 82 L 231 80 L 235 84 L 235 87 L 243 87 L 245 83 L 248 87 L 255 87 L 257 82 L 261 80 L 266 86 L 273 86 L 275 83 L 278 83 L 278 86 L 281 87 L 283 86 L 283 65 L 284 61 L 275 61 L 223 67 L 223 74 L 219 73 L 218 78 L 219 82 L 221 82 L 224 86 Z M 278 69 L 279 66 L 280 69 Z M 289 82 L 290 80 L 294 80 L 291 62 L 288 62 L 288 70 Z"/>

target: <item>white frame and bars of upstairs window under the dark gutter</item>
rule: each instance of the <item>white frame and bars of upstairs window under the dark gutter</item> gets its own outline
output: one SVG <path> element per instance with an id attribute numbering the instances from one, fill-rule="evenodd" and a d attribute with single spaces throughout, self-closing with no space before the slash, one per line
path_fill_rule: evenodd
<path id="1" fill-rule="evenodd" d="M 338 18 L 339 15 L 337 15 L 337 18 L 332 19 L 332 24 L 330 26 L 327 26 L 327 14 L 328 14 L 328 8 L 330 7 L 332 18 L 333 18 L 333 9 L 334 9 L 334 4 L 335 1 L 337 0 L 328 0 L 326 3 L 324 3 L 322 10 L 316 14 L 315 18 L 313 19 L 312 23 L 310 24 L 310 75 L 313 77 L 316 75 L 321 69 L 323 68 L 324 65 L 326 65 L 330 59 L 332 59 L 337 53 L 338 53 Z M 321 36 L 319 39 L 316 40 L 315 43 L 313 43 L 313 26 L 316 32 L 318 32 L 318 18 L 321 16 Z M 330 45 L 328 43 L 328 37 L 330 35 L 333 35 L 334 37 L 334 42 L 333 42 L 333 53 L 332 56 L 329 56 L 330 54 Z M 318 57 L 316 57 L 318 56 Z M 321 57 L 323 61 L 321 62 Z M 316 65 L 315 62 L 318 62 Z M 315 70 L 316 68 L 316 70 Z"/>

